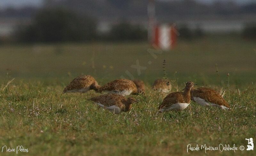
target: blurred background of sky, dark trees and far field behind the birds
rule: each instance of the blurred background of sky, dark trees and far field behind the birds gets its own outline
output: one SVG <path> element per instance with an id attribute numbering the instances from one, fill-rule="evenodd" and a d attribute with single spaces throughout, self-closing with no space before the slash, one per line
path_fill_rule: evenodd
<path id="1" fill-rule="evenodd" d="M 150 22 L 177 29 L 175 47 L 156 57 Z M 165 59 L 180 82 L 225 84 L 230 73 L 233 83 L 251 83 L 255 43 L 256 0 L 0 0 L 2 77 L 151 83 Z M 146 67 L 140 74 L 136 60 Z"/>

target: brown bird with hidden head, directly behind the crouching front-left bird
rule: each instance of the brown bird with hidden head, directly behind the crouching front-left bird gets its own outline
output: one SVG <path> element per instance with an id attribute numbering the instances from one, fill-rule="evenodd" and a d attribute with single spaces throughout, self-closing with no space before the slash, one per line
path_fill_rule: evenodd
<path id="1" fill-rule="evenodd" d="M 131 80 L 119 79 L 112 82 L 108 82 L 104 86 L 100 87 L 99 92 L 108 92 L 112 94 L 119 94 L 122 96 L 137 94 L 137 87 Z"/>

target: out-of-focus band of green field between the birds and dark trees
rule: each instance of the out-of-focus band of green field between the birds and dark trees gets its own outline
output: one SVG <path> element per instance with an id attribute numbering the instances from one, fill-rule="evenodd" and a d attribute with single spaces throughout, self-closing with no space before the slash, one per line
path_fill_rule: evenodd
<path id="1" fill-rule="evenodd" d="M 153 83 L 163 77 L 162 62 L 166 60 L 167 76 L 180 82 L 198 81 L 201 84 L 222 84 L 230 74 L 233 84 L 255 82 L 256 46 L 254 41 L 212 36 L 192 42 L 179 41 L 173 51 L 156 54 L 147 43 L 76 43 L 5 45 L 0 47 L 0 75 L 52 80 L 71 80 L 79 74 L 91 74 L 99 82 L 124 76 Z M 131 65 L 139 60 L 147 67 L 137 74 Z M 151 64 L 148 62 L 151 61 Z M 217 77 L 218 65 L 220 78 Z M 69 76 L 68 76 L 69 75 Z M 221 82 L 223 81 L 224 82 Z M 66 83 L 66 82 L 65 82 Z"/>

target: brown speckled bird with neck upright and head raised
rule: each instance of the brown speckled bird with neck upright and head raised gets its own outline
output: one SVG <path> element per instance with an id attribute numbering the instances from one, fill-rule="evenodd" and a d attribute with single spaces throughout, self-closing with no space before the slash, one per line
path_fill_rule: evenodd
<path id="1" fill-rule="evenodd" d="M 167 95 L 162 104 L 159 106 L 158 112 L 165 112 L 170 110 L 182 111 L 187 108 L 190 103 L 190 90 L 196 85 L 193 82 L 187 82 L 184 92 L 173 92 Z"/>

